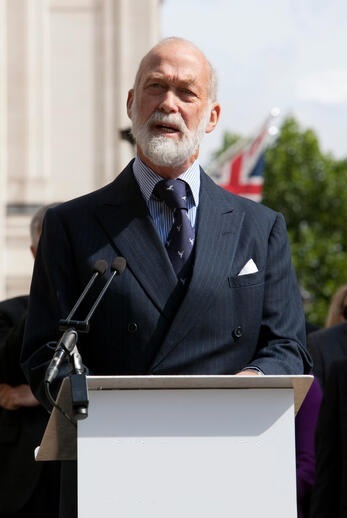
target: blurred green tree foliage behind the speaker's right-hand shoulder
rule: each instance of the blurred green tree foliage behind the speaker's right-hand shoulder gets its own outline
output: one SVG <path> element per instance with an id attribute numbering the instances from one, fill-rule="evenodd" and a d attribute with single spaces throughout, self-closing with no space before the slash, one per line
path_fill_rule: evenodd
<path id="1" fill-rule="evenodd" d="M 227 133 L 219 156 L 237 135 Z M 311 129 L 288 117 L 265 157 L 263 203 L 286 218 L 308 320 L 324 325 L 334 292 L 347 283 L 347 159 L 324 154 Z"/>

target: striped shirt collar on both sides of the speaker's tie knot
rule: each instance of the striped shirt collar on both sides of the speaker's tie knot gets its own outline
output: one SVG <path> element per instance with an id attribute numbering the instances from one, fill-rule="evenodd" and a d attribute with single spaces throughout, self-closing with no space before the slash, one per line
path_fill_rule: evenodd
<path id="1" fill-rule="evenodd" d="M 156 174 L 150 169 L 142 160 L 136 156 L 133 163 L 133 171 L 135 179 L 140 187 L 142 196 L 145 198 L 148 204 L 150 197 L 152 196 L 155 185 L 163 178 Z M 197 207 L 199 205 L 199 190 L 200 190 L 200 166 L 199 162 L 195 162 L 179 177 L 180 180 L 184 180 L 190 187 L 193 195 L 194 204 Z"/>

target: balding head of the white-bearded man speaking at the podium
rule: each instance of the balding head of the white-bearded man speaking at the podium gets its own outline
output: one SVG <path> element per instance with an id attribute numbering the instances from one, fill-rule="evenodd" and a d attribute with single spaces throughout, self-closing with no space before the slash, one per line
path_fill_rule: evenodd
<path id="1" fill-rule="evenodd" d="M 199 154 L 203 136 L 220 114 L 216 75 L 201 50 L 182 38 L 166 38 L 142 59 L 127 99 L 141 160 L 176 178 Z"/>

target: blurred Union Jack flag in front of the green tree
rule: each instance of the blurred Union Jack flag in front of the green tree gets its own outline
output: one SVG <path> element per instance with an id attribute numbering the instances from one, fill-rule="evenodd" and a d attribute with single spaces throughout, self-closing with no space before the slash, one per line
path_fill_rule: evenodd
<path id="1" fill-rule="evenodd" d="M 218 185 L 257 202 L 263 194 L 264 154 L 271 134 L 269 121 L 270 118 L 255 138 L 238 141 L 211 167 L 211 177 Z"/>

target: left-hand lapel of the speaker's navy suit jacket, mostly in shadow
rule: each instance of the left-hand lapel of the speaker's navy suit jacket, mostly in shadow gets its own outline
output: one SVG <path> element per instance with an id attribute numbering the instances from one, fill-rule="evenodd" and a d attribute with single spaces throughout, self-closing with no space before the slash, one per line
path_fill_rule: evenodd
<path id="1" fill-rule="evenodd" d="M 176 275 L 131 166 L 111 186 L 104 203 L 97 208 L 97 219 L 147 295 L 170 317 L 176 307 L 170 298 L 177 283 Z"/>

